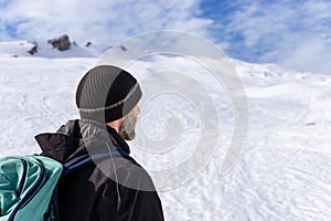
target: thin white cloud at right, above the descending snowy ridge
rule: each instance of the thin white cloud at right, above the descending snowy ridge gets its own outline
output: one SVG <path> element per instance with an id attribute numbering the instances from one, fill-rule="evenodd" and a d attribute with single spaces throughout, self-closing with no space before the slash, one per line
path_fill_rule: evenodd
<path id="1" fill-rule="evenodd" d="M 331 1 L 245 0 L 237 7 L 225 30 L 244 39 L 237 48 L 247 60 L 331 73 Z"/>

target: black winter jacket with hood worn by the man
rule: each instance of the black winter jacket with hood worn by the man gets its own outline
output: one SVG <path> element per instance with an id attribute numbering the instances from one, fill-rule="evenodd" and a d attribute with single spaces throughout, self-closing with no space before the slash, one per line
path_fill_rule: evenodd
<path id="1" fill-rule="evenodd" d="M 57 133 L 35 136 L 45 156 L 65 162 L 86 151 L 129 146 L 104 124 L 70 120 Z M 147 171 L 131 157 L 110 157 L 58 182 L 61 221 L 162 221 L 161 201 Z"/>

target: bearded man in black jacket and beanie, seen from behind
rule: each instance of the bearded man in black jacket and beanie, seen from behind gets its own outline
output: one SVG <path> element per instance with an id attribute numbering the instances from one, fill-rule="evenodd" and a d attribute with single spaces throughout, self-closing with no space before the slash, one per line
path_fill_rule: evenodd
<path id="1" fill-rule="evenodd" d="M 135 137 L 140 98 L 139 84 L 131 74 L 110 65 L 96 66 L 76 91 L 82 119 L 35 137 L 44 155 L 61 162 L 105 148 L 110 152 L 109 158 L 60 180 L 61 221 L 164 220 L 152 180 L 129 156 L 124 140 Z"/>

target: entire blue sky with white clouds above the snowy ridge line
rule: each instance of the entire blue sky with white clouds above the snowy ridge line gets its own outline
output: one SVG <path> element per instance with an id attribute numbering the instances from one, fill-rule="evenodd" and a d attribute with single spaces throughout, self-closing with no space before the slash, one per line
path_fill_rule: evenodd
<path id="1" fill-rule="evenodd" d="M 0 0 L 0 41 L 47 40 L 111 45 L 148 31 L 203 36 L 227 55 L 331 73 L 330 0 Z"/>

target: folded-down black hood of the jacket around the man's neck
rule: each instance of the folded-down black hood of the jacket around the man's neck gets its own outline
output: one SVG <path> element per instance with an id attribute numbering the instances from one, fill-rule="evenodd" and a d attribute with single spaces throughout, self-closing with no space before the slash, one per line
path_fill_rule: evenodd
<path id="1" fill-rule="evenodd" d="M 60 162 L 65 162 L 75 156 L 108 146 L 117 146 L 127 155 L 130 148 L 117 131 L 90 119 L 68 120 L 56 133 L 36 135 L 43 155 Z"/>

